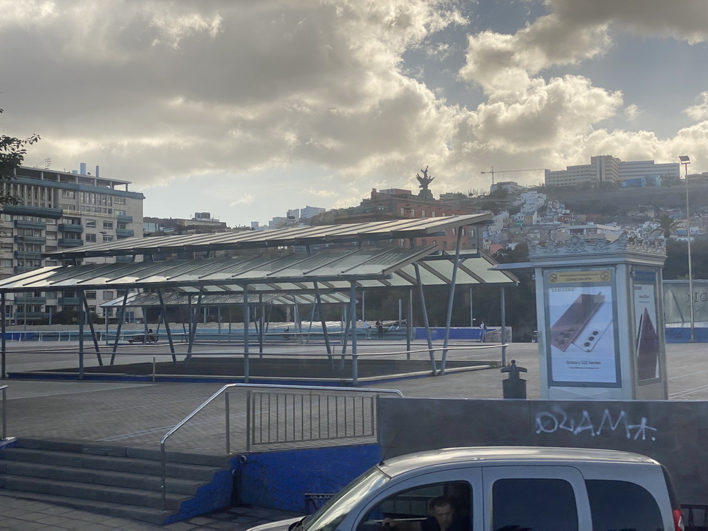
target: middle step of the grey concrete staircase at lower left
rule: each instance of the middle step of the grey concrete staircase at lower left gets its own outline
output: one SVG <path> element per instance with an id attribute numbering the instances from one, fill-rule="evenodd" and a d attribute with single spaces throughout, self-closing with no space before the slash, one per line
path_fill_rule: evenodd
<path id="1" fill-rule="evenodd" d="M 28 476 L 57 481 L 76 481 L 89 484 L 119 486 L 127 489 L 142 489 L 146 491 L 161 490 L 161 476 L 148 474 L 130 474 L 128 472 L 113 472 L 110 470 L 96 470 L 76 467 L 59 467 L 33 462 L 0 459 L 0 474 L 8 476 Z M 166 492 L 188 494 L 193 496 L 204 481 L 180 479 L 175 477 L 165 478 Z"/>

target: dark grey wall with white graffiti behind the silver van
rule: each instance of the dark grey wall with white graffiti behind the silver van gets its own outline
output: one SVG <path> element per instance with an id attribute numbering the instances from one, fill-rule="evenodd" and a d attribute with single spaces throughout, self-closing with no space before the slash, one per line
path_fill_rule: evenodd
<path id="1" fill-rule="evenodd" d="M 708 402 L 384 398 L 384 458 L 455 446 L 607 448 L 664 464 L 682 504 L 708 505 Z M 705 425 L 704 425 L 705 423 Z"/>

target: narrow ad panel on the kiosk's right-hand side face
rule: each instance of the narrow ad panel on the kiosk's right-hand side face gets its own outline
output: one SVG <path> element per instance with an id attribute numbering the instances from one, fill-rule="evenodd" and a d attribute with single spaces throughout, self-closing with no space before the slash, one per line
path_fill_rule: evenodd
<path id="1" fill-rule="evenodd" d="M 637 380 L 643 382 L 659 375 L 658 314 L 656 308 L 656 273 L 635 269 L 634 278 L 634 331 L 636 331 Z"/>

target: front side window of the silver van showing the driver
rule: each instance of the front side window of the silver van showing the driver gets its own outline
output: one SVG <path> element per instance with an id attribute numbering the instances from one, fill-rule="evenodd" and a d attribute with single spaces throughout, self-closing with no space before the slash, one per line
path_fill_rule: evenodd
<path id="1" fill-rule="evenodd" d="M 467 481 L 416 486 L 379 503 L 357 531 L 472 531 L 471 504 Z"/>

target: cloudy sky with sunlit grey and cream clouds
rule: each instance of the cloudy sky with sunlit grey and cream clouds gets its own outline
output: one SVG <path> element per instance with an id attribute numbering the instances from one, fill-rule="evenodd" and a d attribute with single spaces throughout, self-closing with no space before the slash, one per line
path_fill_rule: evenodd
<path id="1" fill-rule="evenodd" d="M 706 0 L 0 0 L 0 132 L 230 225 L 590 156 L 708 171 Z M 523 184 L 542 171 L 496 174 Z"/>

